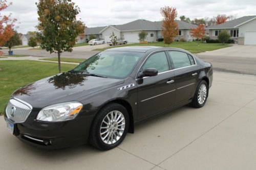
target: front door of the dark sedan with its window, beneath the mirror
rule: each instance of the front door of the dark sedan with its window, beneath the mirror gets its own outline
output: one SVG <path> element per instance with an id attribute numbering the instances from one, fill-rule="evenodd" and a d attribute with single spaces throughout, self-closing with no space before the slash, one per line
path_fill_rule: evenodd
<path id="1" fill-rule="evenodd" d="M 140 71 L 156 68 L 158 75 L 137 79 L 139 118 L 151 116 L 174 106 L 175 74 L 170 71 L 169 59 L 165 51 L 149 56 Z"/>

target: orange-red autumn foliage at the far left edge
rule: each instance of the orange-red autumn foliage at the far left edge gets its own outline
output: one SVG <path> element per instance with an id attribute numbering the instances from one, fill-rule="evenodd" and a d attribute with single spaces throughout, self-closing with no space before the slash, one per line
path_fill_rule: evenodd
<path id="1" fill-rule="evenodd" d="M 13 35 L 13 27 L 14 27 L 14 22 L 16 19 L 11 19 L 10 15 L 2 16 L 1 11 L 6 9 L 11 5 L 7 4 L 6 0 L 0 0 L 0 46 L 3 46 L 6 41 L 8 41 Z M 0 51 L 0 55 L 3 54 L 3 52 Z"/>

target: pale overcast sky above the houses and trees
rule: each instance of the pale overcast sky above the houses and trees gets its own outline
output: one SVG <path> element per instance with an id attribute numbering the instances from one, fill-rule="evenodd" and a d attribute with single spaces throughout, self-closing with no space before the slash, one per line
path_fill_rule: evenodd
<path id="1" fill-rule="evenodd" d="M 13 4 L 1 12 L 1 15 L 12 13 L 18 21 L 17 31 L 26 34 L 36 31 L 36 0 L 8 0 Z M 73 0 L 80 8 L 77 19 L 87 27 L 120 25 L 136 19 L 160 21 L 160 8 L 175 7 L 178 18 L 185 15 L 190 19 L 213 17 L 218 14 L 236 15 L 237 17 L 256 15 L 255 0 Z"/>

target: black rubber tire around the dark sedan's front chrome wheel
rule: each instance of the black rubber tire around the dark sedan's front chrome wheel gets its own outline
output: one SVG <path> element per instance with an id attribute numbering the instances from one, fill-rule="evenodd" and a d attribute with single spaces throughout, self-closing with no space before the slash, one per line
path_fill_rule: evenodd
<path id="1" fill-rule="evenodd" d="M 112 144 L 106 144 L 100 136 L 100 127 L 102 124 L 103 119 L 105 118 L 106 115 L 108 115 L 110 112 L 117 110 L 120 111 L 125 119 L 125 126 L 124 126 L 124 131 L 121 135 L 121 137 Z M 125 107 L 123 107 L 120 104 L 117 103 L 111 103 L 106 106 L 104 106 L 95 116 L 94 121 L 91 126 L 90 130 L 90 143 L 95 147 L 100 150 L 110 150 L 115 147 L 117 147 L 125 138 L 127 131 L 129 129 L 129 114 Z"/>

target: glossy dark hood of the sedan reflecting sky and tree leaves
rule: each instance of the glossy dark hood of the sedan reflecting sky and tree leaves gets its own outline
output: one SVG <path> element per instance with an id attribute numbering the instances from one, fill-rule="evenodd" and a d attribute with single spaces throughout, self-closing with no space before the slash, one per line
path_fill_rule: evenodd
<path id="1" fill-rule="evenodd" d="M 12 97 L 29 103 L 37 110 L 56 103 L 76 101 L 82 96 L 123 82 L 124 80 L 88 76 L 78 72 L 64 72 L 19 88 Z"/>

